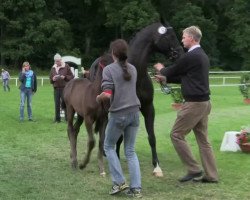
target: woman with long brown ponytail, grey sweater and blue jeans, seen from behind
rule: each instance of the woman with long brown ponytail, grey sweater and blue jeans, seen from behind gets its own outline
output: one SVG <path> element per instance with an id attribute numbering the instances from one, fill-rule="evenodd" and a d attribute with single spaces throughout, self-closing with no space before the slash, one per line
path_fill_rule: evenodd
<path id="1" fill-rule="evenodd" d="M 102 90 L 97 101 L 110 99 L 109 120 L 105 131 L 104 151 L 106 153 L 113 186 L 109 194 L 114 195 L 128 189 L 125 194 L 142 197 L 141 172 L 135 153 L 135 140 L 139 128 L 140 101 L 136 95 L 137 71 L 127 62 L 128 45 L 122 39 L 110 44 L 114 62 L 103 70 Z M 124 137 L 125 156 L 128 161 L 130 187 L 125 177 L 115 145 Z"/>

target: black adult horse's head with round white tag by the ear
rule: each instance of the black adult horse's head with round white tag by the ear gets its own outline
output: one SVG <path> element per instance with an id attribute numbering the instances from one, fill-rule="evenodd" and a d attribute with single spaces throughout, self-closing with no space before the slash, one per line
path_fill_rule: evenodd
<path id="1" fill-rule="evenodd" d="M 184 53 L 174 29 L 167 23 L 159 23 L 154 34 L 154 48 L 170 60 L 176 60 Z"/>

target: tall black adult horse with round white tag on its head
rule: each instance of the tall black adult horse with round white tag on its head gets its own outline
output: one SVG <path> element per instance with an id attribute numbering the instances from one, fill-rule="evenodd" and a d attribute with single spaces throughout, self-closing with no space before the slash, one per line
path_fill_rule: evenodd
<path id="1" fill-rule="evenodd" d="M 156 138 L 154 133 L 155 110 L 153 105 L 154 88 L 148 74 L 148 63 L 154 53 L 161 53 L 171 61 L 177 60 L 183 53 L 174 29 L 167 22 L 153 23 L 139 32 L 129 42 L 128 62 L 137 69 L 137 96 L 141 102 L 141 113 L 144 117 L 145 127 L 148 133 L 148 141 L 151 147 L 153 175 L 163 176 L 159 166 L 159 159 L 156 151 Z M 98 58 L 90 67 L 90 76 L 93 78 Z M 119 152 L 120 141 L 117 143 L 116 152 Z"/>

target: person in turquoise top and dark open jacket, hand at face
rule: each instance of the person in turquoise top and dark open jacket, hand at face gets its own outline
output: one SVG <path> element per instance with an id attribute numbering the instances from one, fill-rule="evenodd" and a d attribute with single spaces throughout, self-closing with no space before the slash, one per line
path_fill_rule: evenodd
<path id="1" fill-rule="evenodd" d="M 36 74 L 31 70 L 30 64 L 26 61 L 23 63 L 22 71 L 19 73 L 20 89 L 20 122 L 24 120 L 24 105 L 27 98 L 27 111 L 29 121 L 34 121 L 32 116 L 32 96 L 37 90 Z"/>

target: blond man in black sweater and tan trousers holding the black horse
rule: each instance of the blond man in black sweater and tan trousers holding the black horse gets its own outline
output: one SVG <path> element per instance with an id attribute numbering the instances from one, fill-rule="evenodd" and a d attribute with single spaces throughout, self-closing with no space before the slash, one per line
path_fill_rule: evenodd
<path id="1" fill-rule="evenodd" d="M 172 143 L 188 171 L 179 181 L 217 183 L 218 173 L 207 132 L 211 110 L 208 78 L 210 64 L 208 56 L 200 46 L 201 37 L 202 33 L 196 26 L 184 29 L 182 43 L 188 52 L 170 67 L 164 68 L 161 63 L 155 64 L 154 67 L 161 74 L 156 75 L 158 82 L 181 83 L 185 99 L 171 131 Z M 204 175 L 185 140 L 191 130 L 199 146 Z"/>

